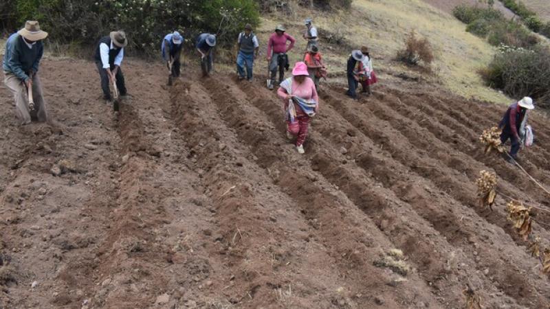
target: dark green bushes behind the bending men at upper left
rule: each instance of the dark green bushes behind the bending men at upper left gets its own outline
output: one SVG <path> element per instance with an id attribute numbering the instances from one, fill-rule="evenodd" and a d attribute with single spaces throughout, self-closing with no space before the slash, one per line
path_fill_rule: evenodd
<path id="1" fill-rule="evenodd" d="M 158 49 L 162 37 L 179 30 L 194 43 L 199 32 L 218 34 L 220 44 L 233 44 L 246 23 L 259 24 L 254 0 L 14 0 L 50 32 L 50 41 L 94 45 L 102 35 L 123 29 L 129 48 Z M 22 11 L 21 11 L 22 12 Z M 38 15 L 38 12 L 40 15 Z M 38 18 L 36 17 L 38 16 Z"/>

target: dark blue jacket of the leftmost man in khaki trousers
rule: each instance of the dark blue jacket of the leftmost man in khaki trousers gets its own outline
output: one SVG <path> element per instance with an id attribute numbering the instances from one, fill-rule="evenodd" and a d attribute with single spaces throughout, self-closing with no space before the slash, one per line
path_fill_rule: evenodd
<path id="1" fill-rule="evenodd" d="M 42 41 L 38 41 L 29 48 L 23 36 L 14 33 L 5 43 L 5 54 L 2 62 L 4 71 L 13 73 L 21 80 L 28 80 L 27 73 L 32 69 L 39 71 L 40 60 L 44 54 Z"/>

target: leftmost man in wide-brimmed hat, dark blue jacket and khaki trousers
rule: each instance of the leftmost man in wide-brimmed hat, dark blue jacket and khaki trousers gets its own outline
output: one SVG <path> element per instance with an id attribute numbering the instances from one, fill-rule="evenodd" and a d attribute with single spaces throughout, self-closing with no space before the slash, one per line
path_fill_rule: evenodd
<path id="1" fill-rule="evenodd" d="M 48 120 L 38 74 L 44 52 L 42 40 L 46 36 L 47 32 L 40 30 L 38 21 L 27 21 L 25 27 L 12 34 L 5 44 L 4 84 L 14 96 L 15 113 L 23 125 L 30 124 L 31 111 L 36 111 L 40 122 Z M 32 88 L 34 105 L 28 104 L 25 98 L 29 88 Z"/>

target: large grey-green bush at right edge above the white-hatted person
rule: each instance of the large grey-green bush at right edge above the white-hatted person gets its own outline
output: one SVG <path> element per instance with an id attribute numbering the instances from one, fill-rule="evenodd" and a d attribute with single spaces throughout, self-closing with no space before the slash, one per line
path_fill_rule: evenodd
<path id="1" fill-rule="evenodd" d="M 526 95 L 549 107 L 550 49 L 524 49 L 500 45 L 487 67 L 479 71 L 489 87 L 514 98 Z"/>

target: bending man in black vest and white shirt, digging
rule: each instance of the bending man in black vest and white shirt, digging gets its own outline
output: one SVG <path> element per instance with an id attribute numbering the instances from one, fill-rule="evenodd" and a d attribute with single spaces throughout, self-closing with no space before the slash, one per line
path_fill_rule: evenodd
<path id="1" fill-rule="evenodd" d="M 96 66 L 98 67 L 101 79 L 101 89 L 103 99 L 110 102 L 112 100 L 109 92 L 109 84 L 116 82 L 116 87 L 121 96 L 126 96 L 126 85 L 124 84 L 124 75 L 120 69 L 122 59 L 124 58 L 124 46 L 128 45 L 126 33 L 124 31 L 113 31 L 109 36 L 100 38 L 98 47 L 96 47 Z"/>

